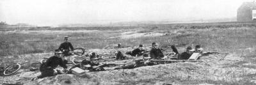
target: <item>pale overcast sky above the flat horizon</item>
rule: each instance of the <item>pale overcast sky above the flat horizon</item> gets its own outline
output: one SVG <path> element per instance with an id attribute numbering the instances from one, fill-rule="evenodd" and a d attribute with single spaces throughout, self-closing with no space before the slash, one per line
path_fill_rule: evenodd
<path id="1" fill-rule="evenodd" d="M 245 0 L 0 0 L 9 24 L 88 24 L 236 17 Z M 246 0 L 248 1 L 248 0 Z"/>

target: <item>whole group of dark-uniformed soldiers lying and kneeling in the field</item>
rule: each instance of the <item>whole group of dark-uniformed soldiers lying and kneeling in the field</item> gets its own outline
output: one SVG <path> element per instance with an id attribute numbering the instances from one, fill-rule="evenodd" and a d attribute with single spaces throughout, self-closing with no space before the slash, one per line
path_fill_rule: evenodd
<path id="1" fill-rule="evenodd" d="M 41 75 L 34 77 L 32 80 L 40 79 L 44 77 L 51 77 L 53 75 L 56 75 L 58 73 L 72 73 L 72 68 L 81 68 L 83 70 L 89 70 L 90 72 L 97 72 L 97 71 L 104 71 L 105 69 L 102 66 L 99 66 L 99 56 L 92 52 L 90 55 L 90 60 L 83 60 L 81 63 L 72 66 L 69 70 L 67 69 L 67 60 L 63 56 L 70 56 L 72 55 L 71 52 L 74 50 L 74 47 L 70 42 L 68 42 L 68 36 L 65 36 L 64 38 L 65 42 L 61 43 L 60 47 L 54 51 L 54 56 L 51 56 L 45 63 L 42 63 L 40 66 L 40 72 Z M 120 43 L 118 44 L 118 47 L 120 47 Z M 179 54 L 178 50 L 176 49 L 175 45 L 171 46 L 172 48 L 172 54 L 176 56 L 176 58 L 173 59 L 188 59 L 193 52 L 202 52 L 202 48 L 200 45 L 196 45 L 195 49 L 192 49 L 192 47 L 187 47 L 186 52 L 182 52 Z M 159 44 L 156 42 L 152 43 L 152 49 L 145 50 L 143 49 L 143 45 L 139 45 L 138 48 L 125 52 L 125 54 L 122 54 L 122 52 L 117 51 L 116 52 L 116 59 L 125 59 L 127 56 L 143 56 L 143 59 L 136 59 L 134 60 L 134 63 L 130 63 L 124 66 L 119 66 L 117 68 L 114 68 L 113 70 L 117 69 L 127 69 L 127 68 L 136 68 L 139 66 L 147 66 L 147 65 L 156 65 L 156 63 L 151 62 L 151 59 L 164 59 L 166 56 L 164 56 L 163 52 L 166 49 L 159 48 Z M 149 52 L 149 54 L 146 54 L 146 52 Z M 57 66 L 63 67 L 63 70 L 55 70 Z"/>

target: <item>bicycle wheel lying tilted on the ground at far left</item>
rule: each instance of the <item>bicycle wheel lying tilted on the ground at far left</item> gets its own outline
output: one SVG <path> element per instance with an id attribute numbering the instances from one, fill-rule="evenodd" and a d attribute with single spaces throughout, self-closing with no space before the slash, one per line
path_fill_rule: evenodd
<path id="1" fill-rule="evenodd" d="M 15 64 L 15 65 L 10 65 L 7 66 L 4 69 L 4 75 L 12 75 L 13 73 L 17 72 L 18 70 L 20 70 L 20 65 L 19 64 Z"/>

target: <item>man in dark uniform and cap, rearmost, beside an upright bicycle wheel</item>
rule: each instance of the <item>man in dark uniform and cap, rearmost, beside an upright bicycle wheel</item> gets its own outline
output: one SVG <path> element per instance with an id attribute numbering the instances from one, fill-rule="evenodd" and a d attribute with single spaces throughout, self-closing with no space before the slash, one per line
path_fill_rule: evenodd
<path id="1" fill-rule="evenodd" d="M 70 56 L 70 50 L 73 51 L 74 47 L 70 42 L 68 42 L 68 36 L 64 37 L 65 42 L 60 44 L 59 50 L 61 50 L 64 56 Z"/>

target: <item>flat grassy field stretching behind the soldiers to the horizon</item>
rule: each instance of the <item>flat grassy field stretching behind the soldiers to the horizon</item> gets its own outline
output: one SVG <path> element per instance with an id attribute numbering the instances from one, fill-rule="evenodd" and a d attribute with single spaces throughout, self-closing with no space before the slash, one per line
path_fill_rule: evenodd
<path id="1" fill-rule="evenodd" d="M 177 44 L 178 47 L 201 44 L 206 49 L 230 50 L 253 47 L 255 24 L 170 24 L 125 27 L 0 27 L 0 56 L 51 52 L 57 49 L 63 36 L 70 36 L 74 47 L 101 49 L 109 44 Z M 125 31 L 168 33 L 167 36 L 131 39 L 107 39 Z M 169 40 L 169 42 L 168 42 Z M 223 47 L 225 46 L 225 47 Z M 220 48 L 222 47 L 222 48 Z"/>

